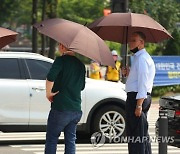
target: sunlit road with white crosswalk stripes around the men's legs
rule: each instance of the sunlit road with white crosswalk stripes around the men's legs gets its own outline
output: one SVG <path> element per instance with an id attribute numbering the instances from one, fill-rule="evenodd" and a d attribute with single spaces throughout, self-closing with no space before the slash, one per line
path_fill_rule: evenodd
<path id="1" fill-rule="evenodd" d="M 157 102 L 153 102 L 149 111 L 149 134 L 155 137 L 155 122 L 158 118 Z M 43 154 L 45 132 L 0 133 L 0 154 Z M 128 154 L 127 143 L 105 143 L 100 147 L 91 144 L 90 139 L 77 140 L 76 154 Z M 57 154 L 63 154 L 64 140 L 61 136 Z M 152 153 L 158 154 L 158 142 L 152 142 Z M 168 146 L 168 154 L 180 154 L 180 148 Z"/>

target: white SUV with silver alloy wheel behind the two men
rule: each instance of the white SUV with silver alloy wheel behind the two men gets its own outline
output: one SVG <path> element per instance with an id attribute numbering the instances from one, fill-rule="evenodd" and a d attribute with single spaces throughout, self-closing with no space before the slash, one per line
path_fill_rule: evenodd
<path id="1" fill-rule="evenodd" d="M 45 79 L 53 60 L 35 53 L 0 52 L 0 131 L 45 131 L 50 102 Z M 124 84 L 86 78 L 78 131 L 107 138 L 125 132 Z"/>

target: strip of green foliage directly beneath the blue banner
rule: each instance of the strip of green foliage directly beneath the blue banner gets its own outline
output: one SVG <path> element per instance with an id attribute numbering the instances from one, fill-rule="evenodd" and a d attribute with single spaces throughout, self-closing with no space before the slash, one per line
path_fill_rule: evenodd
<path id="1" fill-rule="evenodd" d="M 175 93 L 180 93 L 180 85 L 174 86 L 162 86 L 162 87 L 153 87 L 152 96 L 164 96 L 164 95 L 172 95 Z"/>

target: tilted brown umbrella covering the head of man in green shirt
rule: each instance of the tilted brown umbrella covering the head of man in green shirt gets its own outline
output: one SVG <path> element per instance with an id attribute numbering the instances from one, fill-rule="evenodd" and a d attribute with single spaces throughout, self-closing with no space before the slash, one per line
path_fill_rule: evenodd
<path id="1" fill-rule="evenodd" d="M 69 50 L 89 57 L 102 65 L 115 66 L 105 42 L 89 28 L 64 19 L 48 19 L 34 25 L 38 31 L 62 43 Z"/>

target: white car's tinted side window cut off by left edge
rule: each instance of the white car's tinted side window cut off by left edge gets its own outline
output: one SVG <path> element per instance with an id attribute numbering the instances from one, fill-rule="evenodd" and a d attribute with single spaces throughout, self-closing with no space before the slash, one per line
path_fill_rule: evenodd
<path id="1" fill-rule="evenodd" d="M 21 78 L 18 59 L 13 59 L 13 58 L 0 59 L 0 78 L 1 79 Z"/>

